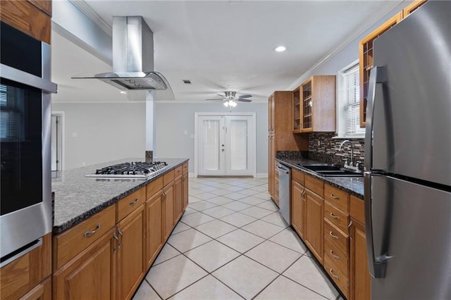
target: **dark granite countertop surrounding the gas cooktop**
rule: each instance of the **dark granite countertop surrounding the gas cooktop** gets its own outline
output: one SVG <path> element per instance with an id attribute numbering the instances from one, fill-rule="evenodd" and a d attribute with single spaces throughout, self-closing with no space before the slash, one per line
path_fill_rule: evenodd
<path id="1" fill-rule="evenodd" d="M 96 169 L 130 161 L 145 161 L 144 158 L 128 158 L 52 174 L 51 190 L 55 192 L 53 232 L 68 230 L 91 215 L 110 206 L 123 197 L 144 187 L 169 170 L 182 165 L 187 158 L 159 158 L 166 161 L 168 168 L 156 172 L 147 180 L 130 178 L 85 177 Z"/>

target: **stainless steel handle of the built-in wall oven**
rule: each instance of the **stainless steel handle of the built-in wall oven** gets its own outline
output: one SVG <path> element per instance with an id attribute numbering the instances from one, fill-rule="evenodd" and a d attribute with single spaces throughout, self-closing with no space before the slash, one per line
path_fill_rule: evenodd
<path id="1" fill-rule="evenodd" d="M 56 83 L 24 72 L 23 70 L 12 68 L 9 65 L 4 65 L 3 63 L 0 65 L 0 77 L 14 82 L 23 83 L 24 85 L 29 85 L 30 87 L 36 87 L 37 89 L 41 89 L 43 92 L 56 93 Z"/>

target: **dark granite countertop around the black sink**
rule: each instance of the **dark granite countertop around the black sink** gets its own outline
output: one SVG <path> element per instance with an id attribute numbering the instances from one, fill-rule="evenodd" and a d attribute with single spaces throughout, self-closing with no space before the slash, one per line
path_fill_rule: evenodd
<path id="1" fill-rule="evenodd" d="M 364 199 L 364 178 L 363 177 L 323 177 L 320 175 L 317 175 L 316 173 L 312 172 L 311 170 L 307 170 L 305 168 L 299 167 L 299 165 L 296 165 L 297 163 L 302 164 L 311 164 L 311 163 L 321 163 L 320 161 L 314 161 L 309 158 L 285 158 L 285 157 L 278 157 L 276 158 L 277 161 L 280 161 L 280 163 L 283 163 L 284 165 L 288 165 L 291 168 L 295 168 L 297 170 L 302 170 L 302 172 L 307 173 L 309 175 L 312 175 L 313 177 L 319 178 L 323 180 L 323 182 L 327 182 L 329 185 L 332 185 L 333 187 L 338 187 L 339 189 L 342 189 L 345 192 L 348 192 L 354 196 L 357 196 L 359 199 Z"/>

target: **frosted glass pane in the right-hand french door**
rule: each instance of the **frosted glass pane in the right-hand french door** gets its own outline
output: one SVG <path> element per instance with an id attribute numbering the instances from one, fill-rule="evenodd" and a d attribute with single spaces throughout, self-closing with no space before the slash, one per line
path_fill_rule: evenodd
<path id="1" fill-rule="evenodd" d="M 247 170 L 247 120 L 230 121 L 230 168 Z"/>

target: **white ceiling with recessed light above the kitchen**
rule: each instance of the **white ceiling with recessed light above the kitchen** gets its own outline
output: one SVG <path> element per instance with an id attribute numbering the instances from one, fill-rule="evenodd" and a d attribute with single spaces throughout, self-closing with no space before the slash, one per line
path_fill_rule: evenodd
<path id="1" fill-rule="evenodd" d="M 142 15 L 154 32 L 155 70 L 171 84 L 175 101 L 195 102 L 218 98 L 226 90 L 267 101 L 399 3 L 85 0 L 109 26 L 113 15 Z M 52 101 L 129 101 L 104 82 L 71 80 L 112 67 L 56 32 L 51 42 L 52 80 L 58 84 Z M 279 45 L 287 50 L 274 51 Z"/>

